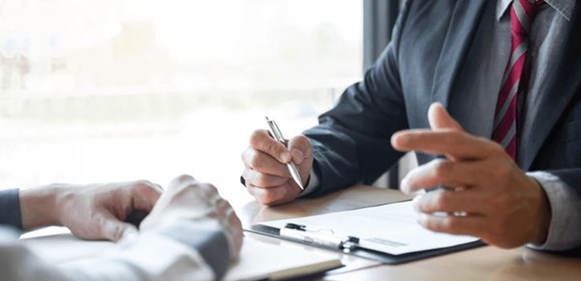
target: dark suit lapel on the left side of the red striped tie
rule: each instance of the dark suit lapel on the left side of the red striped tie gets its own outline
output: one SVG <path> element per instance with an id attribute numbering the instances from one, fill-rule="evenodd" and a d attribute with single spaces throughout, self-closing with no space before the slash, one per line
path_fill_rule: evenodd
<path id="1" fill-rule="evenodd" d="M 456 1 L 432 83 L 431 103 L 447 107 L 451 90 L 464 63 L 487 1 Z M 453 114 L 453 112 L 451 112 Z"/>

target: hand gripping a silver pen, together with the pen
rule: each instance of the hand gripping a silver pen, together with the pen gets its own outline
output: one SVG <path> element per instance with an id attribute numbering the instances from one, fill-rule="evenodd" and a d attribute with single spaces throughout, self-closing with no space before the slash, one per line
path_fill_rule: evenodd
<path id="1" fill-rule="evenodd" d="M 309 180 L 313 147 L 309 139 L 286 140 L 277 124 L 267 118 L 270 130 L 255 130 L 242 153 L 246 188 L 263 205 L 281 205 L 297 198 Z"/>

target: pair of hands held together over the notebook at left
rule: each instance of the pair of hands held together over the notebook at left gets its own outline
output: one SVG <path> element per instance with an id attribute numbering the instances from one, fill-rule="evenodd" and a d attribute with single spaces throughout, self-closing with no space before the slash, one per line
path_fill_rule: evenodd
<path id="1" fill-rule="evenodd" d="M 84 239 L 117 241 L 137 233 L 126 220 L 136 211 L 148 214 L 139 232 L 159 232 L 168 223 L 210 220 L 224 230 L 235 256 L 242 244 L 242 224 L 217 189 L 183 175 L 163 189 L 149 181 L 91 184 L 53 184 L 20 191 L 24 229 L 62 225 Z"/>

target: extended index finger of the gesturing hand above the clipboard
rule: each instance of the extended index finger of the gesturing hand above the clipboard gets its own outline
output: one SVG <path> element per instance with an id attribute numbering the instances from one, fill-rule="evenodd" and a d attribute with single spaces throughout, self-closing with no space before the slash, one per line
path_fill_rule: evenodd
<path id="1" fill-rule="evenodd" d="M 446 154 L 459 159 L 484 159 L 504 152 L 493 141 L 450 129 L 404 130 L 393 134 L 392 145 L 399 151 Z"/>

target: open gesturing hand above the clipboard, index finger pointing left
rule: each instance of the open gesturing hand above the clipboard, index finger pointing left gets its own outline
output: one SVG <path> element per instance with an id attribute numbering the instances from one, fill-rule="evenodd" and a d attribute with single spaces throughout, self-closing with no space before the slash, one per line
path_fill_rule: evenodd
<path id="1" fill-rule="evenodd" d="M 440 185 L 455 189 L 417 198 L 419 223 L 432 231 L 478 236 L 503 248 L 544 242 L 551 211 L 536 180 L 499 144 L 464 132 L 442 105 L 432 104 L 428 118 L 432 130 L 405 130 L 392 137 L 399 151 L 446 156 L 417 167 L 401 181 L 407 194 Z"/>

